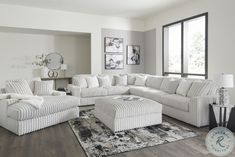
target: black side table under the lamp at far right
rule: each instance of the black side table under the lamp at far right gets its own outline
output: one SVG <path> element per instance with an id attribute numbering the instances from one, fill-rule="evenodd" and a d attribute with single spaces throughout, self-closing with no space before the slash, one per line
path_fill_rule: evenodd
<path id="1" fill-rule="evenodd" d="M 219 122 L 216 121 L 214 107 L 219 108 Z M 231 107 L 231 112 L 227 122 L 227 109 L 229 107 Z M 235 107 L 217 104 L 209 105 L 209 129 L 211 130 L 218 126 L 227 127 L 232 132 L 235 132 Z"/>

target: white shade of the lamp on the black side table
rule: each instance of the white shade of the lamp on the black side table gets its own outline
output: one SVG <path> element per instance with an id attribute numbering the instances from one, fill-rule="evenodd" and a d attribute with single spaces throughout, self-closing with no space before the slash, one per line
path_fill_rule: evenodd
<path id="1" fill-rule="evenodd" d="M 215 76 L 215 83 L 218 87 L 233 88 L 233 74 L 219 74 Z"/>

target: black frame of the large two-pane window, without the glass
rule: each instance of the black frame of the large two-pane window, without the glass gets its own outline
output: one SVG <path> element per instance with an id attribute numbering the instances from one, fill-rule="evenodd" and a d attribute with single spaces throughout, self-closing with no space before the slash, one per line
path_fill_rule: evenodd
<path id="1" fill-rule="evenodd" d="M 184 73 L 184 22 L 193 20 L 199 17 L 205 16 L 205 74 L 194 74 L 194 73 Z M 180 24 L 181 25 L 181 72 L 165 72 L 165 63 L 164 63 L 164 28 Z M 167 76 L 169 74 L 181 75 L 181 77 L 191 76 L 204 76 L 205 79 L 208 79 L 208 12 L 195 15 L 189 18 L 185 18 L 170 24 L 162 26 L 162 75 Z"/>

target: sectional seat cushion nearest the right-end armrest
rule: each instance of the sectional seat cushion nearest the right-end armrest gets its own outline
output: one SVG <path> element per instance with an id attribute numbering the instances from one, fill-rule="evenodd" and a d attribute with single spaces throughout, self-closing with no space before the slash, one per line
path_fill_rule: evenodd
<path id="1" fill-rule="evenodd" d="M 162 97 L 162 104 L 181 111 L 189 112 L 190 98 L 177 94 L 169 94 Z"/>

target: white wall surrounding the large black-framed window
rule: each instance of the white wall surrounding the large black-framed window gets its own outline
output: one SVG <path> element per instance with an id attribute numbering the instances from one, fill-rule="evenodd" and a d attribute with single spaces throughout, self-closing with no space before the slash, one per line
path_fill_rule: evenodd
<path id="1" fill-rule="evenodd" d="M 145 29 L 156 28 L 156 74 L 162 74 L 162 25 L 204 12 L 209 13 L 209 79 L 221 72 L 235 74 L 234 6 L 234 0 L 197 0 L 148 18 Z M 235 88 L 231 99 L 235 103 Z"/>

